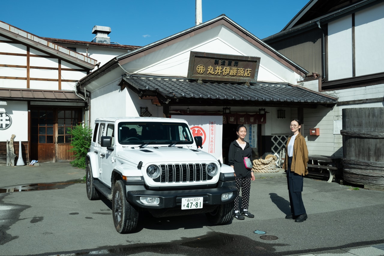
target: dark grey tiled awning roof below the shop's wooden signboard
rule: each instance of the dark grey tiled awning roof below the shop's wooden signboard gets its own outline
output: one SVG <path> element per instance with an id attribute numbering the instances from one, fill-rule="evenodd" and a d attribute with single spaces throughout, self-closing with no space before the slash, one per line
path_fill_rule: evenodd
<path id="1" fill-rule="evenodd" d="M 127 76 L 124 80 L 139 91 L 157 91 L 166 98 L 203 98 L 295 103 L 335 104 L 336 98 L 284 83 L 228 84 L 203 82 L 187 78 Z M 240 102 L 239 102 L 240 104 Z"/>

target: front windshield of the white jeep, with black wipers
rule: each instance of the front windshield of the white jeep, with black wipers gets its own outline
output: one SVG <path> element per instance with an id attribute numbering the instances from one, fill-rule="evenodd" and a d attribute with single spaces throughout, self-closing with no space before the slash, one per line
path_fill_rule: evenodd
<path id="1" fill-rule="evenodd" d="M 118 141 L 121 145 L 190 145 L 193 138 L 186 123 L 119 122 Z"/>

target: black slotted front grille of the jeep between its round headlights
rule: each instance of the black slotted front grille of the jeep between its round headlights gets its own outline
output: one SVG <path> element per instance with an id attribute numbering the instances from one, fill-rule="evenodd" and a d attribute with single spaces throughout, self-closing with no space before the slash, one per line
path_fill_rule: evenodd
<path id="1" fill-rule="evenodd" d="M 207 175 L 207 164 L 176 164 L 160 165 L 161 175 L 154 179 L 156 182 L 193 182 L 207 181 L 212 177 Z"/>

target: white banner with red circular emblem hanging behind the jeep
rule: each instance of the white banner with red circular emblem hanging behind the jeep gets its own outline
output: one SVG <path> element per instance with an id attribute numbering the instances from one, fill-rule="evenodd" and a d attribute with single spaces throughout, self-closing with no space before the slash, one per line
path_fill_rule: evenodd
<path id="1" fill-rule="evenodd" d="M 202 136 L 202 150 L 214 155 L 223 163 L 222 139 L 223 139 L 223 116 L 172 116 L 185 119 L 192 136 Z"/>

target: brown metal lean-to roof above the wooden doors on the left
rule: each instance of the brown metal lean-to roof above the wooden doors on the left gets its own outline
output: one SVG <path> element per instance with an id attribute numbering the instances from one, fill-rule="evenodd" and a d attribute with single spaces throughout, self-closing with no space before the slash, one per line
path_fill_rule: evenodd
<path id="1" fill-rule="evenodd" d="M 32 89 L 1 88 L 0 99 L 36 101 L 84 101 L 74 91 L 45 91 Z"/>

